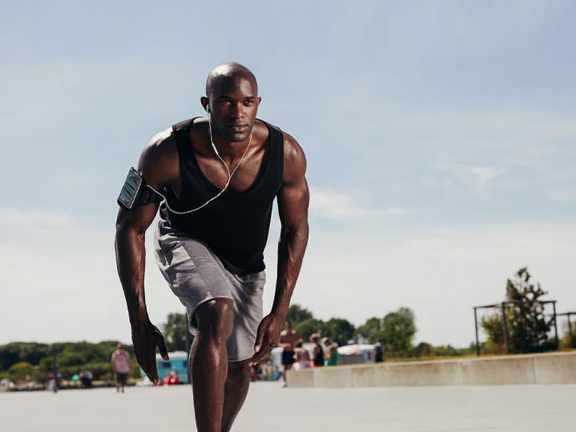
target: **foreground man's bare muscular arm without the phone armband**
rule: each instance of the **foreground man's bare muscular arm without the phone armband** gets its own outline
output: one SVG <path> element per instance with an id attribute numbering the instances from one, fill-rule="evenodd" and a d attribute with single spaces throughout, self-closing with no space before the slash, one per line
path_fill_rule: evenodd
<path id="1" fill-rule="evenodd" d="M 288 134 L 284 134 L 284 174 L 276 198 L 282 224 L 276 293 L 270 314 L 262 319 L 258 327 L 255 355 L 250 359 L 250 364 L 260 362 L 279 341 L 308 243 L 310 194 L 306 182 L 306 158 L 300 145 Z"/>

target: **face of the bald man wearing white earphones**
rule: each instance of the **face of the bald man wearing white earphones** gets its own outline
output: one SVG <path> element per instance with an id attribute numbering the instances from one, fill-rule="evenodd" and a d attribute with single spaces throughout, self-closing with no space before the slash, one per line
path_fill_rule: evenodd
<path id="1" fill-rule="evenodd" d="M 227 141 L 248 139 L 260 104 L 255 82 L 242 75 L 219 80 L 207 102 L 213 132 Z"/>

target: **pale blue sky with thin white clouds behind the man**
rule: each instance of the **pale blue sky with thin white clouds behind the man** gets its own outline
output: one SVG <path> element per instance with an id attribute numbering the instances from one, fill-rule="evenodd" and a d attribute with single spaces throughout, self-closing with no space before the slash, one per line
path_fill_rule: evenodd
<path id="1" fill-rule="evenodd" d="M 293 303 L 355 325 L 399 307 L 468 346 L 473 306 L 528 267 L 576 310 L 576 4 L 0 1 L 0 343 L 129 343 L 116 198 L 207 73 L 256 75 L 259 117 L 307 155 Z M 279 220 L 265 252 L 265 311 Z M 146 238 L 155 324 L 183 312 Z M 558 323 L 563 328 L 563 323 Z"/>

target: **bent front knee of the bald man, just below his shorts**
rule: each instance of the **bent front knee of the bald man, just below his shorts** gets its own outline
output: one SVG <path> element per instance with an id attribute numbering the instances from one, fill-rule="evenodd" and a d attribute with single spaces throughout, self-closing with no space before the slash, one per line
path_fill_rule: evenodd
<path id="1" fill-rule="evenodd" d="M 215 298 L 200 305 L 194 314 L 198 332 L 203 336 L 226 341 L 232 329 L 234 310 L 232 300 Z"/>

